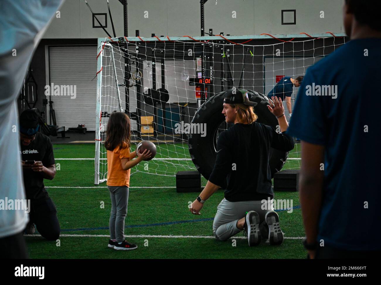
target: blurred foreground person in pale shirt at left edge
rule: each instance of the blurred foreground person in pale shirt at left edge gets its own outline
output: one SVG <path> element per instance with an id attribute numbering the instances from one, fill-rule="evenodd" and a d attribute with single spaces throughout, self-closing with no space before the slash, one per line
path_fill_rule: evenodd
<path id="1" fill-rule="evenodd" d="M 28 222 L 16 99 L 30 60 L 62 0 L 0 2 L 0 252 L 27 258 L 22 231 Z M 24 203 L 18 203 L 22 200 Z M 15 210 L 16 205 L 24 207 Z"/>

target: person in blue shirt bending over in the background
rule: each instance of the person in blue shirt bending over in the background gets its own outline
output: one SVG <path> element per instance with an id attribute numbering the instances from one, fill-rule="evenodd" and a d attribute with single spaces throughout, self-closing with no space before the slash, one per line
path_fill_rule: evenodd
<path id="1" fill-rule="evenodd" d="M 281 80 L 277 83 L 277 85 L 272 88 L 272 90 L 269 92 L 267 98 L 271 98 L 271 96 L 274 97 L 280 97 L 282 98 L 282 101 L 286 101 L 287 109 L 288 109 L 288 115 L 291 118 L 292 110 L 291 110 L 291 95 L 293 92 L 293 86 L 299 87 L 300 83 L 303 82 L 304 76 L 298 76 L 295 79 L 291 78 L 291 76 L 285 76 L 282 77 Z"/>

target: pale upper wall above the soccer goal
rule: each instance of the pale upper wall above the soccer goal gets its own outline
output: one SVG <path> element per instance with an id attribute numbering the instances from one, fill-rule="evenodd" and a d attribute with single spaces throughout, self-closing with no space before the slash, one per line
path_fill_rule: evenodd
<path id="1" fill-rule="evenodd" d="M 88 0 L 94 13 L 107 14 L 107 31 L 112 28 L 106 0 Z M 123 5 L 109 0 L 117 37 L 123 36 Z M 299 34 L 341 33 L 343 0 L 209 0 L 205 3 L 205 30 L 215 34 Z M 282 25 L 281 10 L 296 10 L 296 25 Z M 236 18 L 232 18 L 233 11 Z M 324 18 L 320 18 L 324 11 Z M 148 13 L 148 14 L 147 14 Z M 148 18 L 144 16 L 148 15 Z M 66 0 L 54 18 L 44 38 L 98 38 L 107 35 L 93 28 L 92 14 L 83 0 Z M 96 22 L 98 25 L 98 23 Z M 128 1 L 128 35 L 200 35 L 199 0 L 139 0 Z"/>

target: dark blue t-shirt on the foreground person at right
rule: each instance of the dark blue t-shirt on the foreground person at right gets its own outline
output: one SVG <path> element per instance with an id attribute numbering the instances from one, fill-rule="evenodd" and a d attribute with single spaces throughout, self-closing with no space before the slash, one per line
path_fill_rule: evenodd
<path id="1" fill-rule="evenodd" d="M 330 247 L 381 250 L 380 51 L 381 38 L 352 40 L 311 66 L 287 130 L 325 147 L 317 240 Z"/>

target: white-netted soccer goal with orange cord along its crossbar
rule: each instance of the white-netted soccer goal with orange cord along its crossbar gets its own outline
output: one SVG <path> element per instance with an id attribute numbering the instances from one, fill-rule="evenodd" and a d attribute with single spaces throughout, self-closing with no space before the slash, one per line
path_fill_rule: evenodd
<path id="1" fill-rule="evenodd" d="M 229 128 L 219 114 L 223 92 L 250 90 L 250 99 L 266 107 L 267 94 L 282 77 L 304 75 L 344 43 L 342 34 L 330 33 L 99 38 L 94 183 L 107 179 L 104 140 L 113 112 L 131 118 L 132 149 L 142 140 L 157 146 L 156 157 L 131 175 L 175 176 L 197 169 L 208 178 L 218 134 Z M 294 88 L 291 108 L 296 94 Z M 275 127 L 266 109 L 254 108 L 258 120 Z M 286 104 L 285 111 L 288 118 Z M 298 144 L 289 154 L 274 151 L 274 171 L 280 170 L 279 160 L 280 168 L 299 168 L 299 154 Z"/>

